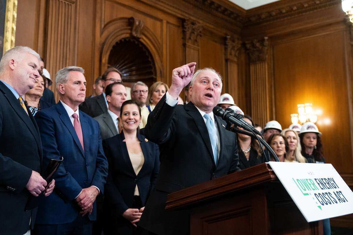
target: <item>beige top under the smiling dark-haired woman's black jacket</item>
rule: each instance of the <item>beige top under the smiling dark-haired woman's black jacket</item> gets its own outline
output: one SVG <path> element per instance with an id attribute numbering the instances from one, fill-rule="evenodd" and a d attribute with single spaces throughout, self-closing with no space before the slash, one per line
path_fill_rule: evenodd
<path id="1" fill-rule="evenodd" d="M 126 147 L 130 157 L 132 168 L 135 174 L 138 175 L 138 173 L 140 172 L 143 166 L 143 163 L 145 162 L 145 157 L 143 156 L 140 142 L 126 143 Z M 140 195 L 137 185 L 135 187 L 134 195 L 135 196 Z"/>

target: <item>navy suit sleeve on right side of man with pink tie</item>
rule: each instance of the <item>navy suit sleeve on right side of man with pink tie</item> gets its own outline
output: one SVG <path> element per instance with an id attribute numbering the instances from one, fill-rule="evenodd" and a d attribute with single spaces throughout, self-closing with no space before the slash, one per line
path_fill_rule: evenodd
<path id="1" fill-rule="evenodd" d="M 92 183 L 99 188 L 100 193 L 104 192 L 104 184 L 107 181 L 108 176 L 108 161 L 106 156 L 104 155 L 103 147 L 102 147 L 102 137 L 101 130 L 98 122 L 96 122 L 98 127 L 98 152 L 97 152 L 97 163 L 96 163 L 96 171 L 94 172 Z"/>

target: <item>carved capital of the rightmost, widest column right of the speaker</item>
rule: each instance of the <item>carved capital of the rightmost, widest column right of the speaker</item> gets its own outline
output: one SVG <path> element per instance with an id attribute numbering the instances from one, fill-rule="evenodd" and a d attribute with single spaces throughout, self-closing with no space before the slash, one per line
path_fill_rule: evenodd
<path id="1" fill-rule="evenodd" d="M 259 61 L 266 61 L 268 37 L 247 41 L 245 42 L 245 46 L 247 49 L 247 54 L 250 58 L 250 62 L 255 63 Z"/>

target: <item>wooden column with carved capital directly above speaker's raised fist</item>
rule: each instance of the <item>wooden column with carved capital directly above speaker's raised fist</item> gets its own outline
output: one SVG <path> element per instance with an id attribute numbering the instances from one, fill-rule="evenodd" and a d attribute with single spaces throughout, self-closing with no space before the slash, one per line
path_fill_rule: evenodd
<path id="1" fill-rule="evenodd" d="M 185 63 L 199 62 L 202 25 L 190 19 L 184 19 L 184 45 L 185 45 Z M 196 64 L 198 69 L 198 63 Z"/>

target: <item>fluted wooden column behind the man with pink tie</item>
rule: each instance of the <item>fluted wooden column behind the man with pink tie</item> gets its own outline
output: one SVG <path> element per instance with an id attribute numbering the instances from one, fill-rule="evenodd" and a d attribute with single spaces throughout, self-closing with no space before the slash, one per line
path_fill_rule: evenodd
<path id="1" fill-rule="evenodd" d="M 52 91 L 58 101 L 55 74 L 77 62 L 78 0 L 48 1 L 48 27 L 46 39 L 46 68 L 53 81 Z"/>

